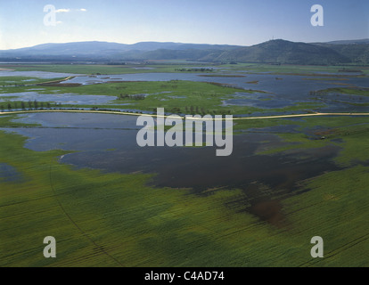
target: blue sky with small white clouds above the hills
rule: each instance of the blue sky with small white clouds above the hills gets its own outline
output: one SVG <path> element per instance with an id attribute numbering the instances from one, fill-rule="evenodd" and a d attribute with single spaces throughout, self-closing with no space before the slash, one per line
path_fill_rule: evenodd
<path id="1" fill-rule="evenodd" d="M 44 6 L 57 9 L 45 26 Z M 313 4 L 324 27 L 313 27 Z M 0 0 L 0 49 L 45 43 L 142 41 L 255 45 L 369 37 L 368 0 Z"/>

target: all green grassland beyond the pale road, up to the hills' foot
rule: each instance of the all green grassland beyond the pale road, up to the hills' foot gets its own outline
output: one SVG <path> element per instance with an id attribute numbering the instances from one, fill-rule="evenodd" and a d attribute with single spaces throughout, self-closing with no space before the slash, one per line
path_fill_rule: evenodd
<path id="1" fill-rule="evenodd" d="M 75 74 L 121 74 L 121 73 L 146 73 L 146 72 L 198 72 L 191 71 L 201 68 L 201 64 L 189 64 L 184 69 L 184 64 L 148 64 L 148 65 L 45 65 L 45 64 L 29 64 L 29 65 L 13 65 L 3 66 L 5 68 L 12 68 L 20 71 L 39 70 L 50 72 L 66 72 Z M 193 67 L 193 68 L 192 68 Z M 208 70 L 208 66 L 202 65 L 202 67 Z M 229 72 L 252 73 L 252 72 L 271 72 L 276 74 L 299 74 L 299 75 L 316 75 L 316 79 L 324 79 L 325 76 L 321 72 L 337 73 L 339 69 L 344 67 L 340 66 L 298 66 L 298 65 L 281 65 L 274 66 L 268 64 L 246 64 L 240 63 L 236 65 L 219 65 L 214 66 L 220 69 L 214 69 L 214 71 L 205 71 L 208 73 L 209 82 L 211 77 L 234 77 L 229 75 Z M 147 69 L 149 68 L 149 69 Z M 209 68 L 212 68 L 211 66 Z M 186 71 L 179 71 L 186 70 Z M 188 71 L 190 70 L 190 71 Z M 223 71 L 227 70 L 228 74 L 223 74 Z M 366 68 L 363 68 L 365 71 Z M 242 74 L 242 72 L 241 72 Z M 244 75 L 238 75 L 242 77 Z M 332 77 L 329 75 L 326 79 L 341 79 L 340 77 Z M 25 82 L 29 82 L 32 85 L 45 82 L 45 79 L 34 80 L 34 77 L 0 77 L 0 94 L 14 94 L 30 92 L 33 89 L 29 86 L 21 86 Z M 61 79 L 61 78 L 55 78 Z M 308 79 L 314 79 L 308 78 Z M 49 81 L 47 79 L 46 81 Z M 16 85 L 16 86 L 14 86 Z M 257 90 L 256 85 L 250 85 L 252 89 L 242 90 L 243 93 L 263 93 Z M 252 106 L 225 106 L 223 102 L 227 99 L 236 99 L 236 92 L 240 90 L 234 88 L 232 85 L 218 85 L 214 83 L 200 83 L 189 81 L 170 81 L 170 82 L 118 82 L 107 83 L 102 85 L 42 85 L 37 86 L 39 94 L 89 94 L 89 95 L 110 95 L 118 97 L 117 100 L 111 104 L 86 105 L 80 104 L 63 104 L 65 108 L 102 108 L 102 109 L 124 109 L 124 110 L 143 110 L 152 111 L 156 108 L 165 108 L 168 112 L 172 113 L 187 113 L 187 114 L 251 114 L 253 112 L 309 112 L 324 107 L 322 102 L 307 103 L 300 102 L 290 107 L 278 108 L 273 110 L 263 110 Z M 359 88 L 331 88 L 324 90 L 324 92 L 336 92 L 342 94 L 358 94 L 367 95 L 366 89 Z M 143 95 L 144 94 L 144 95 Z M 143 99 L 143 96 L 149 94 Z M 320 94 L 320 93 L 319 93 Z M 140 98 L 141 96 L 141 98 Z M 140 100 L 143 99 L 143 100 Z M 310 98 L 311 99 L 311 98 Z M 270 98 L 261 99 L 264 101 L 270 100 Z M 20 101 L 14 98 L 6 98 L 6 101 Z M 20 103 L 20 102 L 19 102 Z M 51 102 L 52 103 L 52 102 Z M 46 104 L 46 103 L 45 103 Z M 365 103 L 352 102 L 351 104 L 365 106 Z M 4 109 L 7 108 L 7 104 L 3 103 Z"/>

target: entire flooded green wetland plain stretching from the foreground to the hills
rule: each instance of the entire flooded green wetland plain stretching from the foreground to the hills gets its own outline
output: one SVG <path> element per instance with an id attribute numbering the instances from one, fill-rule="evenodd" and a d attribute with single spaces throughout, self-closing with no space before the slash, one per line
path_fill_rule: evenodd
<path id="1" fill-rule="evenodd" d="M 0 82 L 11 81 L 0 83 L 0 265 L 367 266 L 368 116 L 234 120 L 233 154 L 218 158 L 211 147 L 138 147 L 135 116 L 57 112 L 369 112 L 366 73 L 182 68 L 0 71 Z M 26 104 L 6 114 L 29 101 L 53 112 L 27 113 L 36 108 Z M 47 235 L 60 240 L 56 260 L 40 257 Z M 324 259 L 309 255 L 316 235 Z"/>

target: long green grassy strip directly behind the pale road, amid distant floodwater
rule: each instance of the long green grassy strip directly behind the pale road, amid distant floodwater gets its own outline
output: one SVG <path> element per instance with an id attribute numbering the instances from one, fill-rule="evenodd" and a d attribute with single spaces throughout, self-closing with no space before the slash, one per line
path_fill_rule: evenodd
<path id="1" fill-rule="evenodd" d="M 324 106 L 321 102 L 299 102 L 293 106 L 263 110 L 251 106 L 225 106 L 223 101 L 237 99 L 237 92 L 245 94 L 265 93 L 263 91 L 249 89 L 240 90 L 228 85 L 218 85 L 206 82 L 193 82 L 172 80 L 168 82 L 119 82 L 100 85 L 58 85 L 39 86 L 38 94 L 86 94 L 115 96 L 110 104 L 86 105 L 63 103 L 65 108 L 102 108 L 152 111 L 157 108 L 165 108 L 168 112 L 183 114 L 250 114 L 263 111 L 309 111 Z M 32 88 L 12 86 L 0 88 L 0 93 L 24 93 Z M 9 100 L 19 101 L 19 100 Z M 0 103 L 6 109 L 6 103 Z M 46 102 L 45 102 L 46 104 Z M 20 102 L 18 102 L 20 105 Z M 26 104 L 27 105 L 27 104 Z M 45 107 L 45 106 L 44 106 Z"/>

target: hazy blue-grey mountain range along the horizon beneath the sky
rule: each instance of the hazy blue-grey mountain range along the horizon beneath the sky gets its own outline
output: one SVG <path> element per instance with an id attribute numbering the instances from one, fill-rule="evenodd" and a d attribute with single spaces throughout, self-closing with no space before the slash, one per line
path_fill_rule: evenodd
<path id="1" fill-rule="evenodd" d="M 142 42 L 44 44 L 0 51 L 0 61 L 124 61 L 186 60 L 271 64 L 369 64 L 369 39 L 329 43 L 295 43 L 283 39 L 251 46 Z"/>

